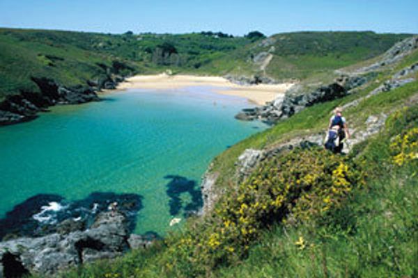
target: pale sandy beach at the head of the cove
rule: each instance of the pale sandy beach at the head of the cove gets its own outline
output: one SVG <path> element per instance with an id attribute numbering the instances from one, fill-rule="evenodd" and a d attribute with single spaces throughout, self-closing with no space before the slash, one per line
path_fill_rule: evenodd
<path id="1" fill-rule="evenodd" d="M 127 78 L 120 83 L 117 90 L 125 89 L 153 89 L 167 90 L 185 88 L 189 86 L 212 86 L 214 92 L 222 95 L 233 95 L 244 97 L 249 101 L 263 105 L 267 101 L 272 101 L 280 94 L 291 88 L 292 83 L 281 84 L 261 84 L 261 85 L 238 85 L 219 76 L 193 76 L 193 75 L 137 75 Z"/>

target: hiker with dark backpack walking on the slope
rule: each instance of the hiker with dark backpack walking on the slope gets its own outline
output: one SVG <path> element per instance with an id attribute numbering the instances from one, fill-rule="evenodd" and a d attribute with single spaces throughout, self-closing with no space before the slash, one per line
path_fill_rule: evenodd
<path id="1" fill-rule="evenodd" d="M 342 113 L 341 107 L 334 109 L 334 115 L 330 119 L 325 142 L 325 148 L 330 149 L 335 154 L 341 154 L 344 138 L 350 138 L 346 118 L 343 117 Z"/>

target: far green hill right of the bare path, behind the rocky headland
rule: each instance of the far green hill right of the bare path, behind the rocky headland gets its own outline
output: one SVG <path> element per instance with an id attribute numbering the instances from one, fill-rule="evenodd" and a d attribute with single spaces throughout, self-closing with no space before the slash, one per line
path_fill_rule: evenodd
<path id="1" fill-rule="evenodd" d="M 274 57 L 266 73 L 275 79 L 306 79 L 311 74 L 331 72 L 378 56 L 392 47 L 394 42 L 407 36 L 373 32 L 300 32 L 273 35 L 274 51 L 271 53 Z"/>

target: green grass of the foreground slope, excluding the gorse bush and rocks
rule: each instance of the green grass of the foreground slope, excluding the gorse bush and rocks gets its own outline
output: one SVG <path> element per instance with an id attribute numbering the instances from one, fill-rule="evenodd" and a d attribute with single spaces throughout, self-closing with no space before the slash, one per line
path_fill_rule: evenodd
<path id="1" fill-rule="evenodd" d="M 406 65 L 411 63 L 415 63 L 415 58 L 408 60 Z M 382 72 L 376 77 L 378 83 L 372 82 L 343 99 L 311 106 L 226 150 L 214 161 L 213 171 L 220 173 L 217 188 L 224 190 L 226 196 L 237 192 L 238 185 L 233 180 L 234 163 L 247 147 L 259 149 L 322 131 L 335 106 L 367 95 L 395 71 Z M 366 174 L 366 183 L 355 186 L 340 206 L 312 221 L 296 226 L 277 222 L 264 227 L 261 236 L 249 243 L 246 256 L 232 257 L 229 264 L 219 261 L 217 265 L 209 266 L 202 261 L 199 264 L 193 260 L 194 256 L 176 249 L 178 243 L 190 235 L 198 239 L 208 236 L 206 231 L 216 224 L 215 220 L 210 220 L 216 219 L 215 214 L 208 216 L 209 220 L 190 219 L 182 231 L 150 250 L 135 250 L 111 263 L 101 261 L 84 265 L 62 276 L 416 277 L 417 160 L 402 167 L 394 165 L 389 145 L 394 136 L 418 126 L 418 105 L 411 99 L 417 96 L 418 81 L 415 81 L 364 99 L 358 106 L 348 109 L 346 117 L 356 126 L 364 123 L 369 115 L 391 114 L 385 131 L 357 145 L 346 157 L 362 165 L 360 169 Z M 405 110 L 405 106 L 410 108 Z M 266 163 L 264 165 L 268 165 Z M 196 268 L 199 271 L 196 272 Z"/>

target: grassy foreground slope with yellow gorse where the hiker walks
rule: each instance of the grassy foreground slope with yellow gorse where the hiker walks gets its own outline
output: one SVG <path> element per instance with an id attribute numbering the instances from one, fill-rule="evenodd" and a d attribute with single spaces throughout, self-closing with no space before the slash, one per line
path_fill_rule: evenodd
<path id="1" fill-rule="evenodd" d="M 243 183 L 235 162 L 247 148 L 271 147 L 323 131 L 335 106 L 368 95 L 418 50 L 357 93 L 306 108 L 234 145 L 214 161 L 215 210 L 149 250 L 85 265 L 63 277 L 416 277 L 418 275 L 418 72 L 415 81 L 345 111 L 364 129 L 385 129 L 347 156 L 321 148 L 268 158 Z"/>

